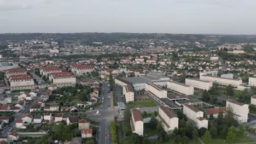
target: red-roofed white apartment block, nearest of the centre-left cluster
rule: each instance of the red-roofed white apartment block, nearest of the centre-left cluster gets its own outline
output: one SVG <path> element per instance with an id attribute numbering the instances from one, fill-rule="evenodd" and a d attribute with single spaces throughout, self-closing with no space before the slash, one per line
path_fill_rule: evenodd
<path id="1" fill-rule="evenodd" d="M 75 84 L 75 76 L 74 75 L 56 75 L 53 77 L 54 84 L 60 83 L 73 83 Z"/>

